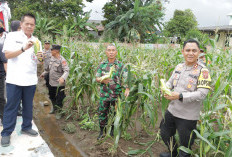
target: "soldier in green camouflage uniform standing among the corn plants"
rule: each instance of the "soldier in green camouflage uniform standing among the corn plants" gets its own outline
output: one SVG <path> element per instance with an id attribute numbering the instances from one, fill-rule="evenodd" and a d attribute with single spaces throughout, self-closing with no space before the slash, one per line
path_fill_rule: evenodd
<path id="1" fill-rule="evenodd" d="M 98 139 L 103 137 L 103 130 L 108 122 L 108 113 L 111 109 L 114 110 L 117 98 L 122 92 L 122 88 L 126 88 L 124 95 L 129 95 L 129 88 L 127 86 L 126 78 L 127 72 L 124 68 L 124 64 L 116 59 L 117 50 L 112 44 L 106 48 L 106 55 L 108 59 L 101 63 L 97 69 L 96 81 L 101 83 L 100 85 L 100 106 L 99 106 L 99 124 L 100 134 Z M 114 66 L 115 72 L 113 72 L 112 78 L 101 80 L 101 77 L 110 71 L 110 68 Z M 112 107 L 112 108 L 111 108 Z M 113 125 L 111 128 L 111 136 L 113 136 Z"/>

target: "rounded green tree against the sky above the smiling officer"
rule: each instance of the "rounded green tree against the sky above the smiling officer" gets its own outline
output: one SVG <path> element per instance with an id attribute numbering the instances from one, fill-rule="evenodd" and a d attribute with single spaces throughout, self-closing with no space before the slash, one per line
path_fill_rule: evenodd
<path id="1" fill-rule="evenodd" d="M 197 20 L 190 9 L 175 10 L 173 18 L 165 24 L 167 36 L 184 37 L 188 31 L 197 28 Z"/>

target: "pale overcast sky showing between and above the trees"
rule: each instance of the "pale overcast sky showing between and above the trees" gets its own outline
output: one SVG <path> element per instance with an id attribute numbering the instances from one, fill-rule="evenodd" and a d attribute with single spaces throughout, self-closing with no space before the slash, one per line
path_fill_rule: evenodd
<path id="1" fill-rule="evenodd" d="M 92 3 L 84 2 L 84 11 L 91 12 L 91 20 L 103 20 L 102 7 L 109 0 L 94 0 Z M 163 22 L 173 17 L 176 9 L 191 9 L 197 18 L 199 27 L 221 26 L 229 24 L 229 13 L 232 14 L 232 0 L 169 0 L 165 4 Z"/>

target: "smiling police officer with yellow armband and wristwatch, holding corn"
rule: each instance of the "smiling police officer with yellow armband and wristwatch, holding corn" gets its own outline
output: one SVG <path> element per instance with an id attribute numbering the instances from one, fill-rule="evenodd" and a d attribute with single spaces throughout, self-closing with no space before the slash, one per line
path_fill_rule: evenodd
<path id="1" fill-rule="evenodd" d="M 176 130 L 179 134 L 180 145 L 190 148 L 196 135 L 197 120 L 200 117 L 202 101 L 210 89 L 211 78 L 208 69 L 199 63 L 199 43 L 189 39 L 184 42 L 182 54 L 185 62 L 176 66 L 166 85 L 173 89 L 169 96 L 171 100 L 164 119 L 161 121 L 161 137 L 167 145 L 169 152 L 161 153 L 160 157 L 176 157 L 178 145 L 175 140 Z M 179 157 L 190 157 L 190 154 L 179 151 Z"/>

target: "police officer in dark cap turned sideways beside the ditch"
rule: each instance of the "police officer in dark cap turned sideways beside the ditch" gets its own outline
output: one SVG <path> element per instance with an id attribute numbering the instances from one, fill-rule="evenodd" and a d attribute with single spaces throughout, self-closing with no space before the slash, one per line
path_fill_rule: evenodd
<path id="1" fill-rule="evenodd" d="M 61 109 L 63 107 L 63 100 L 65 98 L 65 81 L 69 75 L 67 61 L 60 55 L 60 49 L 60 45 L 52 45 L 52 57 L 49 66 L 40 76 L 44 77 L 46 74 L 49 74 L 49 98 L 53 105 L 50 114 L 53 114 L 58 108 Z"/>

